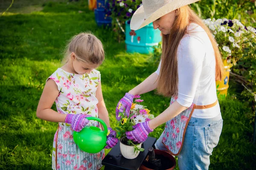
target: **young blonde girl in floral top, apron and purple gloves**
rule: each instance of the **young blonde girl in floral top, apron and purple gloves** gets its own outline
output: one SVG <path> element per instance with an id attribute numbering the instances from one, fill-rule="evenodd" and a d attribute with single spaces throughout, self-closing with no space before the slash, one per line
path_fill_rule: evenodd
<path id="1" fill-rule="evenodd" d="M 101 88 L 99 71 L 95 70 L 104 60 L 100 40 L 92 34 L 74 36 L 67 45 L 64 65 L 48 79 L 38 103 L 37 116 L 50 122 L 58 122 L 52 151 L 52 169 L 99 170 L 105 156 L 104 149 L 96 154 L 81 151 L 74 143 L 73 130 L 84 126 L 97 126 L 88 116 L 99 117 L 111 131 L 107 146 L 113 147 L 118 140 L 110 127 Z M 56 103 L 57 111 L 51 109 Z"/>

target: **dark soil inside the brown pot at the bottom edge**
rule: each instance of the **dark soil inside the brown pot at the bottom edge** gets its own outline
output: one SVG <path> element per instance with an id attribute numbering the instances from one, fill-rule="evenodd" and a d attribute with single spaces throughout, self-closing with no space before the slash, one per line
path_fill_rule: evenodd
<path id="1" fill-rule="evenodd" d="M 155 159 L 161 160 L 161 166 L 158 168 L 158 170 L 168 170 L 174 166 L 174 162 L 170 161 L 167 157 L 165 157 L 163 155 L 156 154 Z M 148 159 L 145 159 L 145 161 L 143 161 L 143 165 L 149 169 L 155 170 L 156 168 L 154 167 L 154 164 L 150 164 L 146 160 L 148 160 Z"/>

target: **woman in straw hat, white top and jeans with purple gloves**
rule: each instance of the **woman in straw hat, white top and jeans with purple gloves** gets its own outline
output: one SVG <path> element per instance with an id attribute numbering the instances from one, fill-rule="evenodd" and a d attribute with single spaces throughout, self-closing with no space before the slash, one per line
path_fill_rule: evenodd
<path id="1" fill-rule="evenodd" d="M 217 43 L 201 19 L 189 8 L 198 0 L 143 0 L 131 19 L 137 30 L 153 22 L 163 36 L 163 53 L 156 72 L 119 101 L 129 114 L 134 95 L 157 88 L 170 96 L 171 105 L 149 122 L 126 132 L 143 142 L 154 128 L 166 123 L 155 147 L 178 156 L 180 170 L 209 168 L 213 148 L 222 130 L 215 81 L 221 80 L 222 61 Z M 119 105 L 118 103 L 118 105 Z"/>

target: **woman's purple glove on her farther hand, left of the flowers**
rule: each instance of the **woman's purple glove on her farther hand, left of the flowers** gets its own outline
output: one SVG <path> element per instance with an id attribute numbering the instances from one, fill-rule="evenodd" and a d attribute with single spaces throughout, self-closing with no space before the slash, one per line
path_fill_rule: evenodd
<path id="1" fill-rule="evenodd" d="M 123 112 L 125 108 L 125 113 L 127 116 L 130 115 L 131 104 L 133 102 L 134 95 L 126 93 L 125 96 L 118 102 L 116 106 L 116 120 L 120 120 L 121 117 L 118 117 L 119 112 Z"/>

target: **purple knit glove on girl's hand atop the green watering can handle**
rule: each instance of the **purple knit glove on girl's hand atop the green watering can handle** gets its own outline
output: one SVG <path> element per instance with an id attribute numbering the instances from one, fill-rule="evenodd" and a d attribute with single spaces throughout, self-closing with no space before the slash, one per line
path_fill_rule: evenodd
<path id="1" fill-rule="evenodd" d="M 73 130 L 80 132 L 84 126 L 89 123 L 87 117 L 91 117 L 84 114 L 68 114 L 65 123 L 71 124 Z"/>

